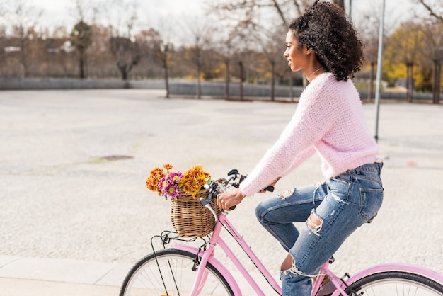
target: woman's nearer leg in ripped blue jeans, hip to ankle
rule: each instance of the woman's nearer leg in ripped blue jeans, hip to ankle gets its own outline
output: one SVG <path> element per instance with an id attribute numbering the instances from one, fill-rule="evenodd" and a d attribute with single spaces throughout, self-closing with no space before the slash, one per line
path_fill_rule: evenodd
<path id="1" fill-rule="evenodd" d="M 289 250 L 292 266 L 282 266 L 283 295 L 309 295 L 311 278 L 359 226 L 381 206 L 381 166 L 367 164 L 328 183 L 327 195 L 313 209 Z"/>

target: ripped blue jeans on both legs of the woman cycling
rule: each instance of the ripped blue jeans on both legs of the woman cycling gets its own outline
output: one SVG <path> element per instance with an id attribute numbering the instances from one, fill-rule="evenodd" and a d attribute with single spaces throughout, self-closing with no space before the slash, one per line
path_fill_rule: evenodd
<path id="1" fill-rule="evenodd" d="M 281 271 L 283 295 L 309 296 L 311 278 L 358 227 L 381 206 L 383 164 L 346 171 L 325 183 L 295 188 L 264 200 L 255 209 L 260 223 L 294 259 Z M 304 222 L 300 229 L 294 222 Z"/>

